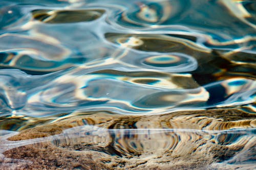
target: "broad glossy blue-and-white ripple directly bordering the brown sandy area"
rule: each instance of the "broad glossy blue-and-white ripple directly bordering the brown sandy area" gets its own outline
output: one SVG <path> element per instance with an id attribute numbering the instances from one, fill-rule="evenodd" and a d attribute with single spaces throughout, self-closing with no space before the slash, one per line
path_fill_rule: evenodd
<path id="1" fill-rule="evenodd" d="M 111 65 L 110 67 L 113 68 Z M 8 75 L 5 70 L 2 72 Z M 19 87 L 20 85 L 10 83 L 10 88 L 18 87 L 18 91 L 22 93 L 16 92 L 14 95 L 10 91 L 11 93 L 2 95 L 5 96 L 4 101 L 8 101 L 8 106 L 15 109 L 15 114 L 31 116 L 57 115 L 75 110 L 160 114 L 177 110 L 245 105 L 255 100 L 255 81 L 250 79 L 233 78 L 200 87 L 197 84 L 181 85 L 181 82 L 193 82 L 191 75 L 190 78 L 189 75 L 169 75 L 169 81 L 156 76 L 158 83 L 145 84 L 134 83 L 138 81 L 136 77 L 142 75 L 136 76 L 134 73 L 131 77 L 119 74 L 119 71 L 100 70 L 97 66 L 90 69 L 80 67 L 44 76 L 27 76 L 23 73 L 20 74 L 18 82 L 23 82 L 24 85 L 30 83 L 30 86 Z M 146 77 L 148 76 L 144 78 Z M 141 78 L 144 79 L 143 76 Z M 16 82 L 14 79 L 10 77 L 8 82 Z M 41 80 L 45 84 L 34 80 Z M 26 98 L 22 94 L 26 94 Z M 17 98 L 26 101 L 18 102 L 15 100 Z M 14 106 L 14 103 L 19 106 Z"/>

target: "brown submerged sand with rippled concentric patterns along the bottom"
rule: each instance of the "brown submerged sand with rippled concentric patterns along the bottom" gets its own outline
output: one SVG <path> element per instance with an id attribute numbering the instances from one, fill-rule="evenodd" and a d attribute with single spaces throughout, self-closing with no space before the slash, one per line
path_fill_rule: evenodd
<path id="1" fill-rule="evenodd" d="M 103 129 L 102 134 L 87 127 L 95 133 Z M 2 148 L 0 168 L 254 169 L 255 127 L 255 115 L 238 109 L 147 116 L 74 113 L 2 139 L 14 147 Z"/>

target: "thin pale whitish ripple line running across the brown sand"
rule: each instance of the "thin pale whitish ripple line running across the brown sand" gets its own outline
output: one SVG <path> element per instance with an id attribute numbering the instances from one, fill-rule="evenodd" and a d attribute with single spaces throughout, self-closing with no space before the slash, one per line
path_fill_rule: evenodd
<path id="1" fill-rule="evenodd" d="M 84 125 L 80 127 L 74 127 L 67 130 L 64 130 L 63 133 L 59 135 L 43 137 L 43 138 L 35 138 L 35 139 L 27 139 L 20 141 L 9 141 L 7 140 L 9 137 L 15 135 L 16 133 L 9 133 L 7 135 L 2 135 L 0 139 L 1 147 L 0 152 L 3 153 L 7 150 L 22 147 L 24 145 L 39 143 L 39 142 L 48 142 L 53 140 L 61 140 L 61 139 L 72 139 L 85 137 L 90 139 L 94 139 L 94 136 L 98 137 L 108 137 L 111 134 L 117 135 L 151 135 L 151 134 L 166 134 L 166 133 L 174 132 L 183 132 L 183 133 L 195 133 L 200 135 L 201 133 L 207 137 L 207 135 L 224 135 L 224 134 L 239 134 L 239 135 L 252 135 L 254 136 L 256 133 L 256 128 L 251 129 L 234 129 L 234 130 L 191 130 L 191 129 L 104 129 L 91 125 Z M 216 136 L 218 137 L 218 136 Z M 118 137 L 119 138 L 119 137 Z M 94 139 L 95 140 L 95 139 Z M 109 139 L 106 139 L 109 141 Z"/>

